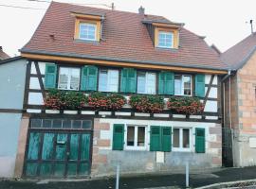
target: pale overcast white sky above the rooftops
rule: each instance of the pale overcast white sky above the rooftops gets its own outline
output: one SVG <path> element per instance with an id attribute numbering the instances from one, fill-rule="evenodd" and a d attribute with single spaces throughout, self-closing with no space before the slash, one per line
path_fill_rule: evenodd
<path id="1" fill-rule="evenodd" d="M 41 2 L 39 2 L 41 1 Z M 9 56 L 18 56 L 40 24 L 50 0 L 0 0 L 0 46 Z M 185 23 L 193 33 L 206 36 L 222 52 L 250 33 L 249 20 L 256 30 L 256 0 L 55 0 L 64 3 L 137 12 L 142 6 L 146 14 L 165 16 Z M 3 6 L 25 7 L 18 9 Z"/>

